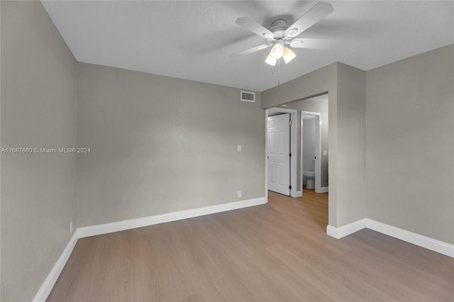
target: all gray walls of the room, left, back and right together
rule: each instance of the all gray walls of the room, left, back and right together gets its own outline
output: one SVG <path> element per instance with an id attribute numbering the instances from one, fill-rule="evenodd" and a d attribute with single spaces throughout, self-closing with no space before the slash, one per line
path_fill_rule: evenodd
<path id="1" fill-rule="evenodd" d="M 38 1 L 0 8 L 1 147 L 92 150 L 1 155 L 1 301 L 33 298 L 71 220 L 264 196 L 260 96 L 271 108 L 330 93 L 330 225 L 369 217 L 454 242 L 453 45 L 367 73 L 334 63 L 251 104 L 235 88 L 77 67 Z"/>

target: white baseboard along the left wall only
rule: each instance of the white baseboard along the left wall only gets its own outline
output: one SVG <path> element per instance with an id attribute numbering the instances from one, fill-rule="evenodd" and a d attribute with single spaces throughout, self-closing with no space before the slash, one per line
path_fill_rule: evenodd
<path id="1" fill-rule="evenodd" d="M 55 285 L 55 282 L 57 282 L 58 276 L 60 276 L 63 267 L 65 267 L 66 262 L 70 258 L 72 250 L 74 250 L 74 246 L 77 243 L 77 239 L 79 239 L 79 232 L 78 230 L 75 230 L 74 234 L 70 239 L 70 242 L 68 242 L 68 244 L 65 247 L 65 250 L 63 250 L 62 255 L 60 255 L 60 257 L 57 259 L 57 262 L 55 262 L 54 267 L 52 267 L 48 276 L 46 277 L 40 289 L 36 293 L 35 298 L 33 298 L 33 302 L 46 301 L 50 291 L 52 291 L 52 288 Z"/>

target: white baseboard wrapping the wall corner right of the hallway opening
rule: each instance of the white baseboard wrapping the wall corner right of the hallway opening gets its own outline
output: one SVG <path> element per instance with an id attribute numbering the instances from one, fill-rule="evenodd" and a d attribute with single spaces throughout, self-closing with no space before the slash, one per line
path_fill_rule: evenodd
<path id="1" fill-rule="evenodd" d="M 445 256 L 454 258 L 454 245 L 433 239 L 431 237 L 409 232 L 408 230 L 403 230 L 402 228 L 396 228 L 392 225 L 380 223 L 369 218 L 360 219 L 358 221 L 355 221 L 354 223 L 343 225 L 340 228 L 335 228 L 332 225 L 327 225 L 326 233 L 331 237 L 340 239 L 347 235 L 353 234 L 358 230 L 362 230 L 363 228 L 375 230 L 376 232 L 382 233 L 384 235 L 388 235 L 412 243 L 414 245 L 418 245 L 419 247 L 424 247 L 433 252 L 438 252 Z"/>

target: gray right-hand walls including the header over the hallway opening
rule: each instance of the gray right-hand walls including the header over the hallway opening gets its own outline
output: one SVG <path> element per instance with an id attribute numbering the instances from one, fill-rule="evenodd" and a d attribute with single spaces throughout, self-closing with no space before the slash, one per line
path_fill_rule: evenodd
<path id="1" fill-rule="evenodd" d="M 263 108 L 330 92 L 330 225 L 369 217 L 454 242 L 453 48 L 369 72 L 335 63 L 262 92 Z"/>

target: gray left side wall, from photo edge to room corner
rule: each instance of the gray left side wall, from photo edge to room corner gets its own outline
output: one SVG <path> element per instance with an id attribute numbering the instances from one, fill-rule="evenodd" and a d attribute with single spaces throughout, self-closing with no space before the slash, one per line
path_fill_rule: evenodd
<path id="1" fill-rule="evenodd" d="M 39 1 L 1 1 L 1 147 L 75 147 L 77 62 Z M 1 155 L 1 301 L 30 301 L 76 227 L 75 155 Z"/>

